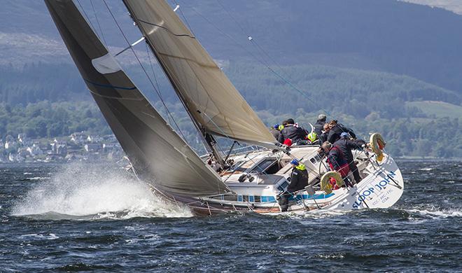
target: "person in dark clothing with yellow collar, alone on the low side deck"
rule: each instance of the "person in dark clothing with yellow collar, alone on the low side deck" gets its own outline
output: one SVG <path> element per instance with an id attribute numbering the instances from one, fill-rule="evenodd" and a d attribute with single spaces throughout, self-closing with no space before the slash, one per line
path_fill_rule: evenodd
<path id="1" fill-rule="evenodd" d="M 292 165 L 292 174 L 290 174 L 290 184 L 287 187 L 287 190 L 281 195 L 279 195 L 279 206 L 281 207 L 281 211 L 287 211 L 288 209 L 288 200 L 293 193 L 303 190 L 304 187 L 308 186 L 308 171 L 307 168 L 298 160 L 292 160 L 290 162 Z"/>

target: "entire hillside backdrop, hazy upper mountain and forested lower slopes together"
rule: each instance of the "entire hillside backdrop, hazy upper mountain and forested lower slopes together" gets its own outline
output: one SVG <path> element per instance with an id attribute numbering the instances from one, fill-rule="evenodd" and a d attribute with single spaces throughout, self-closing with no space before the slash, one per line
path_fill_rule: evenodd
<path id="1" fill-rule="evenodd" d="M 126 9 L 107 2 L 136 41 Z M 76 3 L 111 52 L 125 47 L 102 1 Z M 293 117 L 309 127 L 328 113 L 363 138 L 381 132 L 395 156 L 461 156 L 462 16 L 394 0 L 179 3 L 182 19 L 268 126 Z M 0 138 L 110 132 L 42 1 L 6 0 L 0 25 Z M 151 70 L 146 45 L 135 50 L 187 141 L 200 150 L 160 67 L 153 63 Z M 130 50 L 118 59 L 165 116 Z"/>

